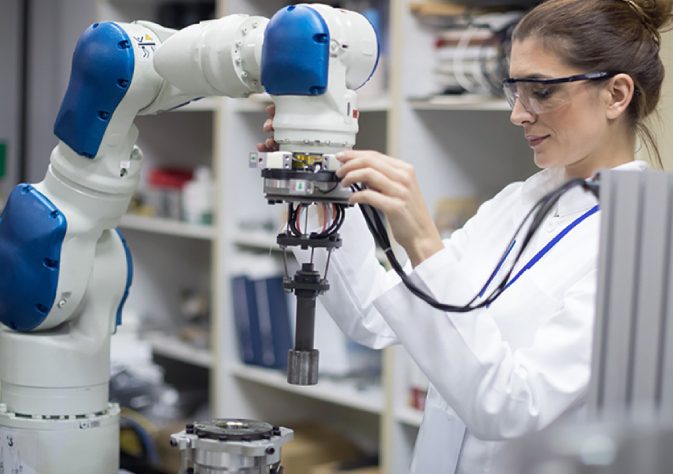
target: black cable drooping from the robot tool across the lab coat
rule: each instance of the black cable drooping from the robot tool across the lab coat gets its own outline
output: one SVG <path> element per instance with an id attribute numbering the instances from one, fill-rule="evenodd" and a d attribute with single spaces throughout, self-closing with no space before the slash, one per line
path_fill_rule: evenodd
<path id="1" fill-rule="evenodd" d="M 514 235 L 509 241 L 509 244 L 507 245 L 507 250 L 505 253 L 503 253 L 503 256 L 500 260 L 500 262 L 505 260 L 505 256 L 507 252 L 509 251 L 510 247 L 514 244 L 514 242 L 517 239 L 517 236 L 523 229 L 524 225 L 532 216 L 532 222 L 528 230 L 526 231 L 526 234 L 524 235 L 522 239 L 522 244 L 521 247 L 519 248 L 518 253 L 516 254 L 516 257 L 514 258 L 514 261 L 510 265 L 508 271 L 505 273 L 505 276 L 501 279 L 500 283 L 495 287 L 495 289 L 480 303 L 474 304 L 474 302 L 479 299 L 480 295 L 487 289 L 491 279 L 495 276 L 498 268 L 496 267 L 487 280 L 487 282 L 484 284 L 482 289 L 475 295 L 467 304 L 458 306 L 458 305 L 451 305 L 451 304 L 445 304 L 445 303 L 440 303 L 435 298 L 433 298 L 430 294 L 426 293 L 422 289 L 420 289 L 416 284 L 411 281 L 411 278 L 406 274 L 404 269 L 402 268 L 402 265 L 400 262 L 397 260 L 397 257 L 392 251 L 392 245 L 390 243 L 390 238 L 388 236 L 388 232 L 386 230 L 385 224 L 384 224 L 384 217 L 381 215 L 380 211 L 375 209 L 372 206 L 369 206 L 367 204 L 360 204 L 360 210 L 362 211 L 362 215 L 364 216 L 365 222 L 367 223 L 367 227 L 369 228 L 369 231 L 372 233 L 374 236 L 374 240 L 376 244 L 383 250 L 383 252 L 386 255 L 386 258 L 388 259 L 388 262 L 390 263 L 390 266 L 395 270 L 395 273 L 400 277 L 404 285 L 413 293 L 415 296 L 419 297 L 426 303 L 428 303 L 430 306 L 433 308 L 439 309 L 441 311 L 447 311 L 451 313 L 467 313 L 470 311 L 474 311 L 475 309 L 483 308 L 486 306 L 489 306 L 492 304 L 498 297 L 502 294 L 502 292 L 507 288 L 507 285 L 509 283 L 509 279 L 512 275 L 512 272 L 514 271 L 514 268 L 516 267 L 517 263 L 521 259 L 521 256 L 523 255 L 524 251 L 530 244 L 530 242 L 533 239 L 533 236 L 537 232 L 538 228 L 542 224 L 542 222 L 545 220 L 547 215 L 551 212 L 551 210 L 554 208 L 558 200 L 563 196 L 566 192 L 568 192 L 570 189 L 580 186 L 586 191 L 591 192 L 594 194 L 596 197 L 598 197 L 598 187 L 599 184 L 598 182 L 586 182 L 583 179 L 573 179 L 571 181 L 568 181 L 564 185 L 560 186 L 556 190 L 548 193 L 545 195 L 542 199 L 540 199 L 535 205 L 531 208 L 531 210 L 526 214 L 524 217 L 523 221 L 519 225 L 519 227 L 516 229 L 514 232 Z M 361 191 L 364 189 L 361 186 L 358 185 L 353 185 L 352 187 L 353 191 Z"/>

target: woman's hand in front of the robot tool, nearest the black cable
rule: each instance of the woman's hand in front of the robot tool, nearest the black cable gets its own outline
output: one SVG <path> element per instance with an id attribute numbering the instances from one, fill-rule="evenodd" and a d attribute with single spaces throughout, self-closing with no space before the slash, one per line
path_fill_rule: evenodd
<path id="1" fill-rule="evenodd" d="M 444 247 L 425 200 L 414 167 L 376 151 L 347 151 L 337 158 L 341 185 L 362 183 L 367 189 L 353 194 L 353 204 L 369 204 L 388 219 L 397 242 L 415 267 Z"/>

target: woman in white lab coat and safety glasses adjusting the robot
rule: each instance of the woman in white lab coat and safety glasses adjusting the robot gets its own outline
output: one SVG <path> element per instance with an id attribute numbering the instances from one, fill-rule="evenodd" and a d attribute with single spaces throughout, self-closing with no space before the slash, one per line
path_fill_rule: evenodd
<path id="1" fill-rule="evenodd" d="M 409 164 L 372 151 L 341 156 L 342 185 L 368 188 L 352 202 L 383 211 L 417 285 L 440 302 L 469 301 L 545 193 L 602 168 L 645 167 L 634 161 L 636 136 L 650 138 L 642 121 L 659 99 L 658 30 L 671 8 L 666 0 L 549 0 L 522 19 L 505 92 L 511 121 L 543 171 L 507 186 L 444 242 Z M 267 141 L 260 150 L 274 146 Z M 435 310 L 386 273 L 364 221 L 350 213 L 322 302 L 358 342 L 404 345 L 430 380 L 411 472 L 502 472 L 498 456 L 508 440 L 582 419 L 596 292 L 595 205 L 577 188 L 564 195 L 521 264 L 576 226 L 496 302 L 468 314 Z"/>

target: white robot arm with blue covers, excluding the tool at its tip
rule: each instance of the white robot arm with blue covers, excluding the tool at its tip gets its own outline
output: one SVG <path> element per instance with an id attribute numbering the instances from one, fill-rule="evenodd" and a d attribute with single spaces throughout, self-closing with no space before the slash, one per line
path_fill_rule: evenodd
<path id="1" fill-rule="evenodd" d="M 17 186 L 0 216 L 0 468 L 117 472 L 110 335 L 132 281 L 116 226 L 142 163 L 135 117 L 266 90 L 286 152 L 334 153 L 354 143 L 350 88 L 377 52 L 364 18 L 322 5 L 271 22 L 231 15 L 179 32 L 107 22 L 82 34 L 47 174 Z"/>

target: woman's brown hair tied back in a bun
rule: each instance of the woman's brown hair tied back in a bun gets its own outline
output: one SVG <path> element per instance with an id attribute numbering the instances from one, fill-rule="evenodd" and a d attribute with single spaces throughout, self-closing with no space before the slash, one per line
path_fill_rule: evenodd
<path id="1" fill-rule="evenodd" d="M 672 10 L 672 0 L 548 0 L 519 22 L 512 41 L 540 38 L 573 67 L 631 76 L 635 93 L 628 114 L 633 130 L 663 167 L 644 119 L 659 103 L 664 80 L 659 32 L 671 23 Z"/>

